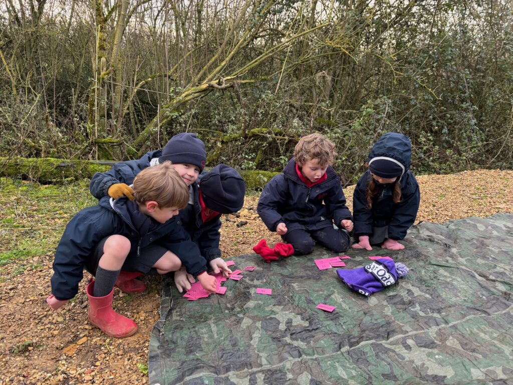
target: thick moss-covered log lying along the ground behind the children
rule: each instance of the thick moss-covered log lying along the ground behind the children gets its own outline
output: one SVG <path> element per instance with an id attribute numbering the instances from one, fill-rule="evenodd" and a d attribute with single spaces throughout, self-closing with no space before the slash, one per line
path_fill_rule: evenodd
<path id="1" fill-rule="evenodd" d="M 108 171 L 114 162 L 63 160 L 54 158 L 2 158 L 0 177 L 21 178 L 41 183 L 63 183 L 91 179 L 95 172 Z M 240 171 L 248 190 L 261 189 L 277 173 L 269 171 Z"/>

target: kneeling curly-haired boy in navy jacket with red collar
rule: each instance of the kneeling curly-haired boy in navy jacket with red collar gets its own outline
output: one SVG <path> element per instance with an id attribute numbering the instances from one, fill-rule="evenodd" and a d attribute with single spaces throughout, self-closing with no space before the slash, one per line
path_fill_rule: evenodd
<path id="1" fill-rule="evenodd" d="M 331 167 L 334 156 L 330 140 L 315 133 L 303 137 L 283 173 L 262 191 L 258 214 L 269 230 L 292 244 L 294 254 L 311 253 L 314 241 L 336 253 L 349 247 L 345 230 L 352 230 L 352 216 Z"/>

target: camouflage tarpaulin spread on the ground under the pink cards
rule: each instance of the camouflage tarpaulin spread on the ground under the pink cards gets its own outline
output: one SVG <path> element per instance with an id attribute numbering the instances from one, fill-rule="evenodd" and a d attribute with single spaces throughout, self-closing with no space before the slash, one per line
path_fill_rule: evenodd
<path id="1" fill-rule="evenodd" d="M 226 281 L 225 295 L 187 301 L 166 282 L 150 384 L 513 383 L 513 215 L 422 223 L 404 244 L 346 253 L 345 268 L 374 255 L 410 268 L 370 297 L 315 266 L 336 255 L 323 248 L 272 263 L 236 257 L 235 268 L 257 269 Z"/>

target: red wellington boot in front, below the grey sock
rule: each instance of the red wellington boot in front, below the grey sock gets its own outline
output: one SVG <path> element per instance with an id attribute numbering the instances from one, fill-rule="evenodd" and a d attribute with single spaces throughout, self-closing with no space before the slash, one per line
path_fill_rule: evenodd
<path id="1" fill-rule="evenodd" d="M 93 297 L 94 281 L 91 281 L 87 285 L 86 293 L 89 299 L 87 319 L 94 326 L 115 338 L 129 337 L 137 331 L 137 324 L 134 321 L 112 310 L 114 289 L 105 297 Z"/>

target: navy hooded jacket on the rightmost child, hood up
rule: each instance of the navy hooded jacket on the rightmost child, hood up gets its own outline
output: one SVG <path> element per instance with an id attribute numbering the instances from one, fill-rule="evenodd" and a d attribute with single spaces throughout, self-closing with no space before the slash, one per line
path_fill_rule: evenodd
<path id="1" fill-rule="evenodd" d="M 371 235 L 372 227 L 388 225 L 388 238 L 401 240 L 408 228 L 415 222 L 420 205 L 419 184 L 409 170 L 411 145 L 403 134 L 386 133 L 372 147 L 368 160 L 386 157 L 400 162 L 405 172 L 399 181 L 389 185 L 378 185 L 378 193 L 372 198 L 372 208 L 367 207 L 366 189 L 370 180 L 367 170 L 357 183 L 353 193 L 354 238 Z M 401 201 L 393 203 L 392 193 L 396 183 L 401 183 Z"/>

